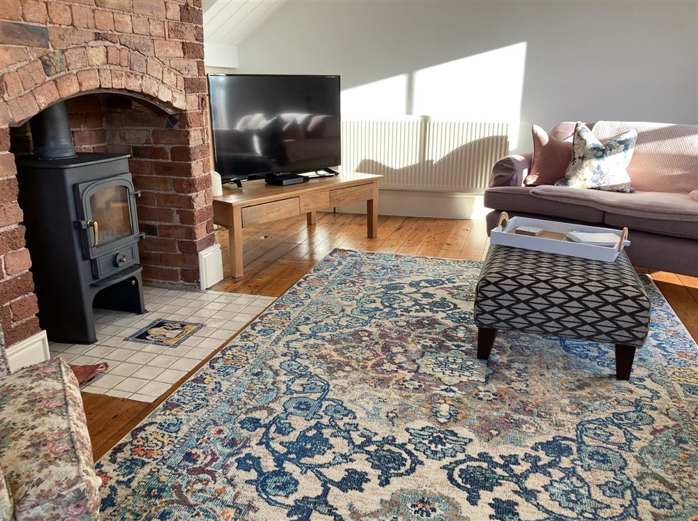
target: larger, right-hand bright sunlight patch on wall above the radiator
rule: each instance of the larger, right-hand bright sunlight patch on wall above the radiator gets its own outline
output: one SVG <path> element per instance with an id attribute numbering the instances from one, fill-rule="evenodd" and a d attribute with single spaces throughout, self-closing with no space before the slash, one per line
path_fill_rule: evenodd
<path id="1" fill-rule="evenodd" d="M 413 74 L 413 114 L 504 122 L 517 146 L 526 42 L 423 68 Z"/>

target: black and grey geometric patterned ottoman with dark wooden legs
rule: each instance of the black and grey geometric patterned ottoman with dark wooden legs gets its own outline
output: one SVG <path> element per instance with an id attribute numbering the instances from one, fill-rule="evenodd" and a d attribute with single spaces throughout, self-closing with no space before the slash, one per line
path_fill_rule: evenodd
<path id="1" fill-rule="evenodd" d="M 475 292 L 477 358 L 497 329 L 609 342 L 616 378 L 630 378 L 647 336 L 650 303 L 625 252 L 615 262 L 490 246 Z"/>

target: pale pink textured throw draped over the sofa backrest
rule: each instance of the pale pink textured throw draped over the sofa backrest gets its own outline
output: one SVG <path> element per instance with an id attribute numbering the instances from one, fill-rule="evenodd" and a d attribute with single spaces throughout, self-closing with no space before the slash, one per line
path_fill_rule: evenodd
<path id="1" fill-rule="evenodd" d="M 602 142 L 628 130 L 637 131 L 628 174 L 639 192 L 687 194 L 698 189 L 698 126 L 644 121 L 597 121 Z"/>

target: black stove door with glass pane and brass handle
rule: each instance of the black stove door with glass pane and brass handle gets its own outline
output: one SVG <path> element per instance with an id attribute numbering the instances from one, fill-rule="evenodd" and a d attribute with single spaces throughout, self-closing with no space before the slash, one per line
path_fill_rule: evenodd
<path id="1" fill-rule="evenodd" d="M 131 174 L 77 185 L 82 203 L 82 245 L 85 257 L 96 259 L 138 242 L 138 217 Z M 123 263 L 122 263 L 123 264 Z M 114 266 L 124 267 L 124 266 Z"/>

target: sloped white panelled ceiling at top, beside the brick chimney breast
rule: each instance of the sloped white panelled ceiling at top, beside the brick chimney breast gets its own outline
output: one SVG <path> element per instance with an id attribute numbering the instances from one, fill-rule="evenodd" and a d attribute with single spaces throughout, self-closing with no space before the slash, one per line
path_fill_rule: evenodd
<path id="1" fill-rule="evenodd" d="M 237 46 L 287 0 L 203 0 L 204 41 Z"/>

